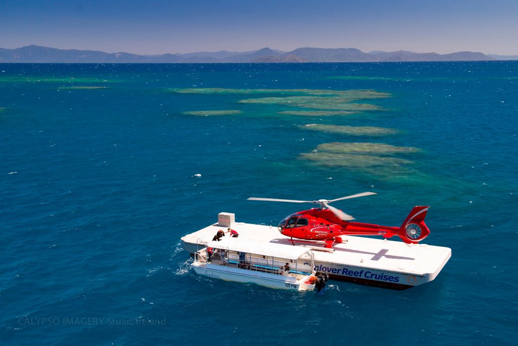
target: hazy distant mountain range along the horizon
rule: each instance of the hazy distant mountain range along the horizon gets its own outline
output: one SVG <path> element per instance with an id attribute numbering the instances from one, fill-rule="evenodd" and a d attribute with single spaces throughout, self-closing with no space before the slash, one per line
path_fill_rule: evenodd
<path id="1" fill-rule="evenodd" d="M 249 52 L 195 52 L 186 54 L 139 55 L 93 50 L 26 46 L 0 48 L 0 63 L 293 63 L 293 62 L 389 62 L 389 61 L 481 61 L 518 60 L 518 56 L 485 55 L 480 52 L 450 54 L 372 51 L 355 48 L 297 48 L 283 52 L 263 48 Z"/>

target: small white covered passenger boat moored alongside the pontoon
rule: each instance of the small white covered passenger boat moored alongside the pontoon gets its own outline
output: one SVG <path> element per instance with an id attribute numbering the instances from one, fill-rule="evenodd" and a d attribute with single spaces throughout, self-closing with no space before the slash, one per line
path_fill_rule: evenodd
<path id="1" fill-rule="evenodd" d="M 209 252 L 213 251 L 209 259 Z M 237 238 L 211 241 L 194 254 L 199 275 L 226 281 L 255 283 L 272 289 L 313 291 L 320 280 L 314 271 L 313 252 L 304 247 Z"/>

